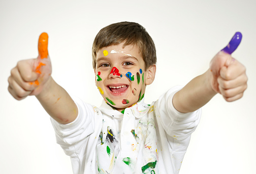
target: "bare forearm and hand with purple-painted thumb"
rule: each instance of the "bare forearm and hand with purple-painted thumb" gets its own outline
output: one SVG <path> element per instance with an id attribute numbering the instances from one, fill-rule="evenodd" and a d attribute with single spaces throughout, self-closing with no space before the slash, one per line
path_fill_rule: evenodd
<path id="1" fill-rule="evenodd" d="M 231 57 L 241 37 L 241 33 L 236 33 L 229 45 L 214 56 L 210 68 L 174 95 L 173 105 L 179 112 L 193 112 L 204 106 L 217 93 L 228 102 L 243 96 L 247 88 L 245 67 Z"/>

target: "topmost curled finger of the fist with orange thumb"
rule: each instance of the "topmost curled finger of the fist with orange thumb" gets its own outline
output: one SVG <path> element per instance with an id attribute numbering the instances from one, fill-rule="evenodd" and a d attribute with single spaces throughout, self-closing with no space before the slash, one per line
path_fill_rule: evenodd
<path id="1" fill-rule="evenodd" d="M 17 70 L 14 75 L 17 73 L 20 74 L 23 81 L 35 81 L 38 78 L 38 74 L 33 70 L 33 64 L 36 59 L 22 60 L 17 63 Z"/>

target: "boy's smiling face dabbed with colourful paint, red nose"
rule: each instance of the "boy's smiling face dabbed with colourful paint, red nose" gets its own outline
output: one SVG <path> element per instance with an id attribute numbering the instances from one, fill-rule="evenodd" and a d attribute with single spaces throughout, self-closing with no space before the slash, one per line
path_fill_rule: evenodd
<path id="1" fill-rule="evenodd" d="M 140 50 L 122 45 L 100 49 L 95 69 L 95 82 L 102 97 L 119 111 L 144 97 L 148 74 Z"/>

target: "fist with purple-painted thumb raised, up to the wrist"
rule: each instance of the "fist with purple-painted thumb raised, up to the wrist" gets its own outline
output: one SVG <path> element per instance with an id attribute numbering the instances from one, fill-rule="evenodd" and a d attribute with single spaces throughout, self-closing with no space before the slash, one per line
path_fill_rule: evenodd
<path id="1" fill-rule="evenodd" d="M 210 63 L 212 89 L 228 102 L 240 99 L 247 88 L 245 67 L 231 57 L 241 39 L 242 34 L 236 32 L 228 46 L 217 53 Z"/>

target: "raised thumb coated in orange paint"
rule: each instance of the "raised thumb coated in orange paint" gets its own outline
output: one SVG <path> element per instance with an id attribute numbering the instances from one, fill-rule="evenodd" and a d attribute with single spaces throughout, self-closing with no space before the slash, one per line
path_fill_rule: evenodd
<path id="1" fill-rule="evenodd" d="M 41 59 L 48 57 L 48 34 L 43 32 L 38 39 L 38 53 Z"/>

